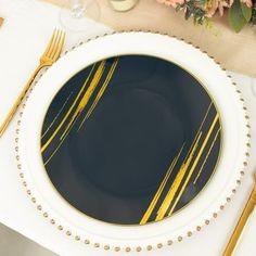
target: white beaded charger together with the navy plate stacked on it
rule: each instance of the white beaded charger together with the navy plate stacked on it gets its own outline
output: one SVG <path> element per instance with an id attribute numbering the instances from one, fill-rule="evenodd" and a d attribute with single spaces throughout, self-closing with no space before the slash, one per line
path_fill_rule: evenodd
<path id="1" fill-rule="evenodd" d="M 213 59 L 168 36 L 82 43 L 24 108 L 16 151 L 27 193 L 51 223 L 95 247 L 190 236 L 230 201 L 247 164 L 240 91 Z"/>

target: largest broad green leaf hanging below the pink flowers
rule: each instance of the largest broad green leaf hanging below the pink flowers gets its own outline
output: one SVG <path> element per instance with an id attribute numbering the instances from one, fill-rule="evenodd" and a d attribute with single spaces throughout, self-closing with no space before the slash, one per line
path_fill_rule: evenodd
<path id="1" fill-rule="evenodd" d="M 229 9 L 229 23 L 236 33 L 247 23 L 242 12 L 240 0 L 234 0 L 232 7 Z"/>

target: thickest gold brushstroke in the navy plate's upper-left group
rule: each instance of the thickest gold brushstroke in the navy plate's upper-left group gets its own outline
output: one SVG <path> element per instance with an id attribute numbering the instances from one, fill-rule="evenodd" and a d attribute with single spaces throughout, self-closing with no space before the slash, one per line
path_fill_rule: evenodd
<path id="1" fill-rule="evenodd" d="M 63 138 L 65 137 L 66 132 L 69 130 L 71 126 L 73 123 L 75 123 L 75 120 L 77 119 L 77 117 L 79 116 L 79 114 L 82 112 L 82 110 L 86 107 L 87 103 L 89 102 L 93 91 L 95 90 L 97 86 L 99 85 L 101 77 L 105 71 L 105 62 L 106 61 L 102 61 L 98 71 L 95 72 L 88 89 L 86 90 L 84 97 L 81 98 L 75 113 L 72 116 L 72 119 L 68 121 L 67 126 L 65 127 L 64 132 L 61 136 L 61 140 L 63 140 Z"/>

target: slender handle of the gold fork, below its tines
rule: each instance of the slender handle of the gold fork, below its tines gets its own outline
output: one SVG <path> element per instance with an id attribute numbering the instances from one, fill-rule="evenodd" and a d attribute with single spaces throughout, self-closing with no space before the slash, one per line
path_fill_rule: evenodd
<path id="1" fill-rule="evenodd" d="M 0 137 L 3 135 L 3 132 L 5 131 L 5 129 L 8 128 L 8 125 L 10 124 L 10 121 L 12 120 L 14 114 L 16 113 L 17 107 L 20 106 L 22 100 L 24 99 L 24 97 L 26 95 L 28 89 L 30 88 L 34 79 L 36 78 L 37 74 L 40 72 L 40 69 L 43 67 L 42 64 L 39 64 L 38 67 L 36 68 L 36 71 L 33 73 L 33 75 L 30 76 L 29 80 L 27 81 L 27 84 L 25 85 L 25 87 L 23 88 L 23 90 L 21 91 L 20 95 L 17 97 L 16 101 L 14 102 L 12 108 L 9 111 L 7 117 L 4 118 L 2 125 L 0 126 Z"/>

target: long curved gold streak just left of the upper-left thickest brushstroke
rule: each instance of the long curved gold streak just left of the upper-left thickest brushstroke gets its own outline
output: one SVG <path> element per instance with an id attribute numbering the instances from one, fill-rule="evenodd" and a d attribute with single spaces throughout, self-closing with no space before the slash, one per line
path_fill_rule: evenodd
<path id="1" fill-rule="evenodd" d="M 78 92 L 75 101 L 73 102 L 72 106 L 69 107 L 69 110 L 67 111 L 66 115 L 64 116 L 64 118 L 62 119 L 62 121 L 60 123 L 60 125 L 56 127 L 56 129 L 54 130 L 54 132 L 52 133 L 52 136 L 49 138 L 49 140 L 41 146 L 41 153 L 47 149 L 47 146 L 52 142 L 52 140 L 54 139 L 54 137 L 56 136 L 56 133 L 59 132 L 59 130 L 62 128 L 63 124 L 65 123 L 65 120 L 68 118 L 69 114 L 72 113 L 73 108 L 75 107 L 77 101 L 79 100 L 84 89 L 86 88 L 87 86 L 87 82 L 89 81 L 90 79 L 90 76 L 94 69 L 94 66 L 95 64 L 92 66 L 91 71 L 90 71 L 90 74 L 88 75 L 86 81 L 84 82 L 80 91 Z"/>

